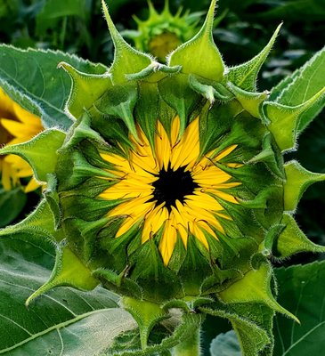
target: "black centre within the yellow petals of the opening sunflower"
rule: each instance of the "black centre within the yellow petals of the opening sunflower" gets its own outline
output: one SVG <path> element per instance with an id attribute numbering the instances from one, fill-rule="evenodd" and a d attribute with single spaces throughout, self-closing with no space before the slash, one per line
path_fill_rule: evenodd
<path id="1" fill-rule="evenodd" d="M 156 205 L 165 202 L 168 211 L 171 211 L 171 206 L 175 206 L 175 201 L 184 201 L 186 195 L 193 193 L 199 184 L 193 182 L 190 172 L 185 172 L 184 167 L 173 171 L 168 166 L 167 171 L 163 168 L 158 174 L 158 180 L 152 183 L 155 188 L 153 190 L 152 200 L 157 200 Z"/>

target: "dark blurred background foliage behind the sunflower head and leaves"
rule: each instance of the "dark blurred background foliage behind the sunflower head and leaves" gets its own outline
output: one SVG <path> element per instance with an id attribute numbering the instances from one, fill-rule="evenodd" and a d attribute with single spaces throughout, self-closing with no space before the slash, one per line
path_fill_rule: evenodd
<path id="1" fill-rule="evenodd" d="M 191 12 L 207 11 L 209 0 L 170 0 L 173 13 L 180 6 Z M 146 0 L 110 0 L 110 14 L 118 29 L 134 29 L 132 15 L 148 16 Z M 164 1 L 153 1 L 161 11 Z M 302 66 L 324 45 L 325 0 L 220 0 L 216 12 L 215 43 L 227 65 L 254 57 L 283 21 L 280 36 L 259 77 L 259 90 L 271 89 L 283 77 Z M 113 46 L 102 19 L 100 0 L 0 0 L 0 42 L 21 48 L 51 48 L 76 53 L 90 61 L 110 65 Z M 0 63 L 1 65 L 1 63 Z M 325 173 L 325 112 L 317 117 L 299 140 L 295 158 L 313 172 Z M 32 206 L 36 195 L 30 195 Z M 307 190 L 297 209 L 297 221 L 313 242 L 325 244 L 325 183 Z M 314 255 L 297 255 L 287 264 L 307 263 Z M 220 321 L 207 328 L 206 342 L 225 330 Z M 213 335 L 209 335 L 213 330 Z"/>

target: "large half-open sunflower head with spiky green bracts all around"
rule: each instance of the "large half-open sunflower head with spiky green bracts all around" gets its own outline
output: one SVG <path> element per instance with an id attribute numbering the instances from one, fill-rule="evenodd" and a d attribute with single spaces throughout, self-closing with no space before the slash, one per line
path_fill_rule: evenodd
<path id="1" fill-rule="evenodd" d="M 306 65 L 271 96 L 256 93 L 280 27 L 255 58 L 227 68 L 212 37 L 215 0 L 167 64 L 126 44 L 103 10 L 116 51 L 110 69 L 59 64 L 72 80 L 69 132 L 48 129 L 0 151 L 25 158 L 46 184 L 37 210 L 0 232 L 56 247 L 53 275 L 27 303 L 52 287 L 102 283 L 139 325 L 134 354 L 183 341 L 175 352 L 194 355 L 192 334 L 207 313 L 232 322 L 245 355 L 272 354 L 274 312 L 297 320 L 275 300 L 272 258 L 325 251 L 293 217 L 305 189 L 325 175 L 283 159 L 325 89 L 288 101 Z M 153 344 L 150 331 L 175 308 L 182 320 Z"/>

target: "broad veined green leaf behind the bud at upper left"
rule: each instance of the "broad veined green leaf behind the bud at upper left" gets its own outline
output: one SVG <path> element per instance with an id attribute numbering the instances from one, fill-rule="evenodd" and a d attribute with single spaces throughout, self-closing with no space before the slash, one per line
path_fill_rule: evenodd
<path id="1" fill-rule="evenodd" d="M 90 74 L 102 74 L 107 70 L 102 64 L 95 65 L 67 53 L 21 50 L 6 44 L 0 45 L 0 80 L 27 95 L 37 105 L 37 111 L 33 112 L 42 117 L 45 127 L 68 129 L 72 121 L 64 109 L 71 81 L 63 70 L 57 69 L 61 61 Z M 18 103 L 30 109 L 30 102 L 21 99 Z"/>

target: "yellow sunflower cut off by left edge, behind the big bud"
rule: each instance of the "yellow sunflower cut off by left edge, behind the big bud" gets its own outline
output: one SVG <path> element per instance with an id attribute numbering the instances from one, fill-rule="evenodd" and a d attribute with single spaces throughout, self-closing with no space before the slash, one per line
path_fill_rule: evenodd
<path id="1" fill-rule="evenodd" d="M 27 142 L 44 130 L 41 119 L 13 101 L 0 88 L 0 145 Z M 25 192 L 36 190 L 39 184 L 33 177 L 28 163 L 15 155 L 0 158 L 0 172 L 4 190 L 11 190 L 20 184 L 20 178 L 30 178 Z"/>

